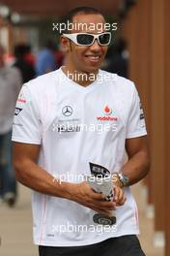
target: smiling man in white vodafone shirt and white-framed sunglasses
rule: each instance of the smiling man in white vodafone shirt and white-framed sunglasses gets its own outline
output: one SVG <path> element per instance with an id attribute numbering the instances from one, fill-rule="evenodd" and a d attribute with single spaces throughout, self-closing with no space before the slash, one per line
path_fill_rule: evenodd
<path id="1" fill-rule="evenodd" d="M 77 8 L 67 20 L 66 65 L 25 84 L 14 116 L 14 168 L 34 190 L 34 240 L 41 256 L 144 255 L 129 189 L 149 170 L 138 94 L 130 80 L 99 70 L 111 39 L 99 11 Z M 90 162 L 113 174 L 112 202 L 80 180 L 90 176 Z M 113 209 L 116 225 L 94 223 L 95 212 Z"/>

